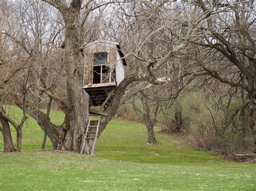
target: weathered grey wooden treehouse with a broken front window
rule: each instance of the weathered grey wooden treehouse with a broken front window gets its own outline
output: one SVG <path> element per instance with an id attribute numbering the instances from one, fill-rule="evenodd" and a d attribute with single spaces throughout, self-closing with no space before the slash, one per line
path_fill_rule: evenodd
<path id="1" fill-rule="evenodd" d="M 118 43 L 95 40 L 83 47 L 84 84 L 93 106 L 103 105 L 124 79 L 126 61 Z"/>

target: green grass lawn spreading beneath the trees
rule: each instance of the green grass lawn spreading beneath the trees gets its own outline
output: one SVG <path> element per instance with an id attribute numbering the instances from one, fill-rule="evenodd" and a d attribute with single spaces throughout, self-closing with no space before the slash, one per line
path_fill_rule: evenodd
<path id="1" fill-rule="evenodd" d="M 17 108 L 10 113 L 17 119 L 21 114 Z M 51 119 L 60 124 L 62 112 L 52 112 Z M 12 132 L 15 140 L 15 131 Z M 23 132 L 21 153 L 0 153 L 0 190 L 256 188 L 255 163 L 228 162 L 208 152 L 195 151 L 180 138 L 158 132 L 160 144 L 147 145 L 146 128 L 137 123 L 111 121 L 99 138 L 95 158 L 38 151 L 43 131 L 31 118 Z M 52 149 L 49 141 L 46 148 Z M 0 150 L 3 150 L 2 135 Z"/>

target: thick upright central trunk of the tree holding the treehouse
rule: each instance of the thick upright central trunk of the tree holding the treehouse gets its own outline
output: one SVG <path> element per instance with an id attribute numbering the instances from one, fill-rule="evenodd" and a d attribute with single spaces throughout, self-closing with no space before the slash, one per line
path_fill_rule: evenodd
<path id="1" fill-rule="evenodd" d="M 76 5 L 80 6 L 80 5 Z M 78 7 L 78 10 L 80 8 Z M 65 135 L 59 147 L 64 151 L 80 152 L 85 139 L 85 129 L 89 121 L 89 95 L 82 89 L 83 62 L 80 59 L 80 42 L 78 12 L 70 10 L 64 15 L 65 20 L 65 61 L 66 61 L 66 93 L 68 95 L 68 111 L 65 112 Z M 87 143 L 87 141 L 86 141 Z M 89 154 L 91 142 L 84 147 L 83 153 Z"/>

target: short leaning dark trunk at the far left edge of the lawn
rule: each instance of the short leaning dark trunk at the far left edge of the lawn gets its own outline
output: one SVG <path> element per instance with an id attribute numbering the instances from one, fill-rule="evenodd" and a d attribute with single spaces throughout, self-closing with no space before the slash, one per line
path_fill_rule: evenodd
<path id="1" fill-rule="evenodd" d="M 0 115 L 0 121 L 2 124 L 2 133 L 4 138 L 4 151 L 3 152 L 15 152 L 14 143 L 12 143 L 11 130 L 9 122 Z"/>

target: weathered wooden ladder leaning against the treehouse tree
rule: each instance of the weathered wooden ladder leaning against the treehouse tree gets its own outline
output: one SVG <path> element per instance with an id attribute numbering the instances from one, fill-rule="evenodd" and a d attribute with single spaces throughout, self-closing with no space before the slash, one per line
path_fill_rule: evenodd
<path id="1" fill-rule="evenodd" d="M 92 151 L 94 151 L 95 145 L 96 145 L 96 142 L 97 142 L 98 131 L 99 131 L 99 123 L 100 123 L 100 118 L 101 117 L 102 116 L 99 116 L 98 120 L 91 121 L 91 116 L 90 116 L 89 122 L 87 124 L 86 131 L 85 131 L 84 143 L 83 143 L 82 149 L 80 151 L 80 154 L 83 153 L 85 141 L 88 140 L 88 142 L 89 142 L 90 139 L 93 140 Z M 91 152 L 90 155 L 93 155 L 93 152 Z"/>

